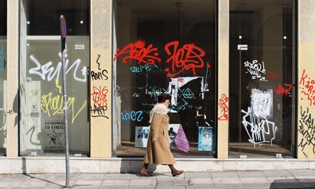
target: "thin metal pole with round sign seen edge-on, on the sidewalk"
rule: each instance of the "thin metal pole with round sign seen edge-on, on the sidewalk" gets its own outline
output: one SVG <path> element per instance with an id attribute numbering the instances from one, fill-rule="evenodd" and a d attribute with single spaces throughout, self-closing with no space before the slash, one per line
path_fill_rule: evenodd
<path id="1" fill-rule="evenodd" d="M 66 99 L 66 18 L 60 16 L 60 36 L 61 36 L 61 59 L 62 59 L 62 91 L 64 96 L 64 140 L 66 145 L 66 188 L 69 188 L 69 144 L 68 144 L 68 118 L 67 118 L 67 99 Z"/>

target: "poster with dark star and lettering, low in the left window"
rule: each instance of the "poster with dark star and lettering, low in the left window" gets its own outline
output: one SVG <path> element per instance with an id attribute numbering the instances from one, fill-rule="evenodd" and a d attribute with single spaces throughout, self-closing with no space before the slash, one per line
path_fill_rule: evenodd
<path id="1" fill-rule="evenodd" d="M 64 152 L 64 121 L 45 121 L 44 132 L 44 151 L 49 153 Z"/>

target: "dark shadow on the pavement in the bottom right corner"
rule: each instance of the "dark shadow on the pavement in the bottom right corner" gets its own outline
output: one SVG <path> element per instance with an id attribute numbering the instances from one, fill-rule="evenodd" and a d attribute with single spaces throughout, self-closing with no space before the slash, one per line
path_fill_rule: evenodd
<path id="1" fill-rule="evenodd" d="M 270 189 L 271 188 L 315 188 L 315 179 L 275 179 L 270 184 Z"/>

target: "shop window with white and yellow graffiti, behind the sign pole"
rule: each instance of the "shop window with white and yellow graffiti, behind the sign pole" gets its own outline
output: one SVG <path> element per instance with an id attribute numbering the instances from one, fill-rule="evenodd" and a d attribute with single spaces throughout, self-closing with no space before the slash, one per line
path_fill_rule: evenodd
<path id="1" fill-rule="evenodd" d="M 60 15 L 67 25 L 69 151 L 90 151 L 89 14 L 88 0 L 21 1 L 21 155 L 64 153 Z"/>

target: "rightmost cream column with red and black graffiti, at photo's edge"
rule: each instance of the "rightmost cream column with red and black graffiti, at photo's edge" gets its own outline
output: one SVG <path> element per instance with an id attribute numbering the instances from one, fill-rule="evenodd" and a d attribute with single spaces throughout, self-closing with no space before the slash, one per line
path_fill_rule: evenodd
<path id="1" fill-rule="evenodd" d="M 297 157 L 315 158 L 315 1 L 298 1 Z M 314 22 L 313 22 L 314 21 Z"/>

